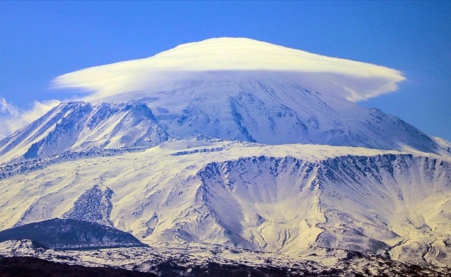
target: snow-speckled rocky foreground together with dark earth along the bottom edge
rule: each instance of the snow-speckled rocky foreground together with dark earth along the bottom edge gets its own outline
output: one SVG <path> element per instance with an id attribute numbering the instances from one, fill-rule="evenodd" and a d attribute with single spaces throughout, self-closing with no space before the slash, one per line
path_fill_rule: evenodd
<path id="1" fill-rule="evenodd" d="M 12 254 L 12 255 L 11 255 Z M 449 276 L 451 269 L 405 265 L 356 251 L 314 249 L 302 259 L 218 245 L 55 251 L 30 241 L 0 243 L 0 276 Z M 44 260 L 39 260 L 44 259 Z M 50 260 L 51 262 L 48 262 Z M 68 265 L 67 265 L 68 264 Z M 81 265 L 81 266 L 80 266 Z M 102 268 L 99 268 L 101 266 Z M 87 267 L 87 268 L 86 268 Z M 120 270 L 122 269 L 122 270 Z M 127 269 L 127 271 L 123 270 Z"/>

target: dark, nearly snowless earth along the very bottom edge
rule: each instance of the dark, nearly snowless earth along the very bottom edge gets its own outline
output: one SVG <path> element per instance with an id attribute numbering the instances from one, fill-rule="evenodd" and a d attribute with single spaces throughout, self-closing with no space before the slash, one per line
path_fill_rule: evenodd
<path id="1" fill-rule="evenodd" d="M 31 257 L 0 258 L 0 277 L 75 277 L 75 276 L 102 276 L 102 277 L 176 277 L 176 276 L 199 276 L 199 277 L 282 277 L 282 276 L 374 276 L 369 271 L 365 274 L 349 274 L 342 269 L 329 269 L 317 273 L 311 273 L 305 269 L 293 269 L 288 267 L 261 266 L 249 267 L 246 265 L 221 265 L 210 262 L 207 265 L 183 267 L 175 262 L 163 262 L 152 266 L 151 271 L 155 273 L 143 273 L 139 271 L 128 271 L 108 267 L 83 267 L 81 265 L 66 265 L 59 262 L 49 262 Z M 158 274 L 158 275 L 157 275 Z M 447 276 L 431 271 L 426 273 L 421 267 L 406 266 L 402 271 L 389 272 L 378 276 Z"/>

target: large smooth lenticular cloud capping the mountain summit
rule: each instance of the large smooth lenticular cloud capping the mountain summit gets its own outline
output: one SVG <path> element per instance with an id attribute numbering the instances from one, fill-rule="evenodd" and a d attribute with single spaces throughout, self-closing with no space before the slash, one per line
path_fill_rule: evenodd
<path id="1" fill-rule="evenodd" d="M 244 73 L 246 78 L 252 72 L 255 78 L 275 73 L 284 81 L 354 102 L 396 91 L 397 83 L 405 80 L 401 72 L 384 66 L 225 37 L 182 44 L 145 59 L 67 73 L 55 78 L 53 86 L 90 91 L 89 100 L 134 91 L 151 93 L 193 78 L 221 78 L 225 71 Z"/>

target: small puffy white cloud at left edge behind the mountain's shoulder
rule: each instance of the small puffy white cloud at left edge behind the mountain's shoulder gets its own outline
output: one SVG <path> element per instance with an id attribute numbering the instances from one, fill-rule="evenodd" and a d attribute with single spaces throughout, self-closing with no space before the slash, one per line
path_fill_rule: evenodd
<path id="1" fill-rule="evenodd" d="M 43 116 L 59 102 L 59 100 L 34 101 L 33 107 L 21 110 L 4 98 L 0 98 L 0 139 Z"/>

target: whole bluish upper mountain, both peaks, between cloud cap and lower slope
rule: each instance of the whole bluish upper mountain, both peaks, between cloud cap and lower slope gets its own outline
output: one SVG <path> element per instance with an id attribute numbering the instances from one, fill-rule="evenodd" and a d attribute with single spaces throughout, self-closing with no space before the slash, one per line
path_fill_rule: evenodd
<path id="1" fill-rule="evenodd" d="M 365 109 L 299 84 L 276 82 L 273 77 L 232 82 L 232 73 L 217 75 L 226 81 L 208 80 L 206 75 L 201 83 L 185 82 L 153 98 L 62 103 L 0 141 L 0 157 L 3 162 L 23 161 L 68 150 L 151 147 L 199 134 L 274 145 L 311 143 L 451 154 L 449 143 L 378 109 Z"/>

